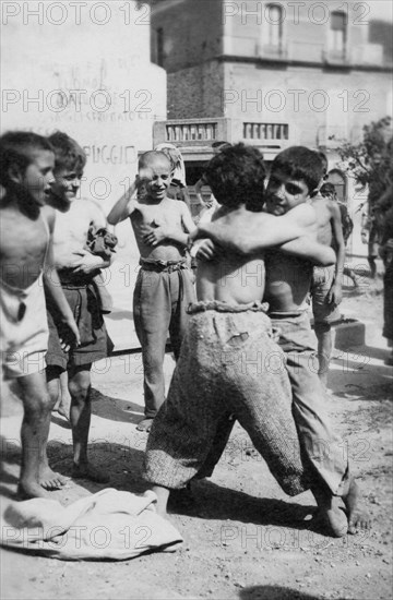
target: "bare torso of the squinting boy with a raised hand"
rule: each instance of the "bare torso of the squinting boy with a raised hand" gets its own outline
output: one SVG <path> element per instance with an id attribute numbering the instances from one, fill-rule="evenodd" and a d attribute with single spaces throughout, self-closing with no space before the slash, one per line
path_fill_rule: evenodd
<path id="1" fill-rule="evenodd" d="M 138 249 L 143 259 L 157 261 L 179 261 L 184 256 L 184 247 L 172 241 L 165 240 L 157 245 L 146 244 L 143 236 L 146 230 L 160 226 L 183 228 L 182 205 L 183 203 L 166 197 L 159 203 L 147 204 L 139 201 L 130 215 L 131 225 L 135 235 Z"/>

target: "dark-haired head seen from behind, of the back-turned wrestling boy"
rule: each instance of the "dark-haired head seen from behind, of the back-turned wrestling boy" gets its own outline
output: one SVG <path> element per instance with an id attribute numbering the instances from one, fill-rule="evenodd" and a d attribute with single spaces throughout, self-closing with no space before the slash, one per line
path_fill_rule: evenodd
<path id="1" fill-rule="evenodd" d="M 261 211 L 266 169 L 259 149 L 245 144 L 228 145 L 207 164 L 205 179 L 219 204 Z"/>

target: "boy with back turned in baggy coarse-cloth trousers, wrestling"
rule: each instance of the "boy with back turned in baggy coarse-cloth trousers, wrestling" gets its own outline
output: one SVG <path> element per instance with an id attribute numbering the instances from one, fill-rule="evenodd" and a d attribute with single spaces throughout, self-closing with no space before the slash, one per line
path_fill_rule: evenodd
<path id="1" fill-rule="evenodd" d="M 322 264 L 334 261 L 331 249 L 312 241 L 315 223 L 309 207 L 279 219 L 248 209 L 248 205 L 262 207 L 265 168 L 257 148 L 242 144 L 227 148 L 211 160 L 206 173 L 222 204 L 214 225 L 222 231 L 230 229 L 234 245 L 240 231 L 251 240 L 262 237 L 263 247 L 295 240 L 286 244 L 288 252 L 303 255 L 305 247 L 320 255 Z M 311 239 L 296 239 L 305 235 Z M 182 488 L 198 473 L 228 413 L 248 431 L 287 493 L 306 489 L 285 361 L 276 369 L 267 364 L 272 356 L 284 357 L 261 304 L 263 291 L 262 252 L 249 259 L 229 251 L 198 268 L 200 301 L 190 305 L 192 316 L 168 398 L 154 420 L 145 455 L 145 478 L 153 483 L 163 515 L 169 490 Z M 251 365 L 255 356 L 262 359 L 262 373 Z"/>

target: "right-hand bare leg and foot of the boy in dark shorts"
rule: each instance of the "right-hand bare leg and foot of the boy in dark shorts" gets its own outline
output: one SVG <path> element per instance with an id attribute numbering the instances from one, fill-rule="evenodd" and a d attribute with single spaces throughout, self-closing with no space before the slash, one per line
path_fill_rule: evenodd
<path id="1" fill-rule="evenodd" d="M 91 364 L 74 367 L 69 371 L 71 394 L 70 420 L 73 442 L 73 477 L 85 478 L 98 483 L 109 481 L 108 475 L 96 469 L 87 460 L 87 441 L 92 418 Z"/>

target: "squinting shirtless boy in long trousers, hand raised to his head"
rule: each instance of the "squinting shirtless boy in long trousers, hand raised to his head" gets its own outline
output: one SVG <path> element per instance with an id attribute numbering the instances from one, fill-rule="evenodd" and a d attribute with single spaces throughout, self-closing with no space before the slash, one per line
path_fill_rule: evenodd
<path id="1" fill-rule="evenodd" d="M 141 253 L 133 296 L 144 371 L 145 418 L 138 424 L 139 431 L 150 431 L 165 399 L 163 364 L 168 329 L 177 359 L 188 321 L 186 309 L 195 298 L 186 257 L 188 233 L 194 225 L 186 204 L 167 197 L 170 179 L 168 157 L 157 151 L 145 153 L 136 177 L 143 194 L 139 200 L 124 194 L 108 215 L 110 225 L 130 217 Z"/>

